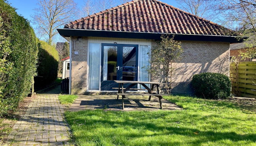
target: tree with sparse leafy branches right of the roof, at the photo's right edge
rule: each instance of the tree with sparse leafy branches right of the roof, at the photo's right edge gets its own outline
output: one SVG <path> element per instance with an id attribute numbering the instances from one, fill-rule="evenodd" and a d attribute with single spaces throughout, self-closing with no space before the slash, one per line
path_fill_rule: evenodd
<path id="1" fill-rule="evenodd" d="M 256 1 L 221 0 L 218 10 L 225 22 L 235 22 L 235 28 L 245 40 L 245 52 L 240 52 L 242 59 L 256 57 Z"/>

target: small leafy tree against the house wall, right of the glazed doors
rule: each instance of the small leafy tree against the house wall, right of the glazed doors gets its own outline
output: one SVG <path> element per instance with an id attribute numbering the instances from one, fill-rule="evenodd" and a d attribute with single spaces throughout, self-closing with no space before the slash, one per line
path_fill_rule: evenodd
<path id="1" fill-rule="evenodd" d="M 161 40 L 157 41 L 157 47 L 154 47 L 148 53 L 150 59 L 150 66 L 146 70 L 151 76 L 161 76 L 165 83 L 165 88 L 170 94 L 170 87 L 172 83 L 173 62 L 181 59 L 183 49 L 181 42 L 175 41 L 174 36 L 162 35 Z M 161 75 L 159 75 L 161 73 Z"/>

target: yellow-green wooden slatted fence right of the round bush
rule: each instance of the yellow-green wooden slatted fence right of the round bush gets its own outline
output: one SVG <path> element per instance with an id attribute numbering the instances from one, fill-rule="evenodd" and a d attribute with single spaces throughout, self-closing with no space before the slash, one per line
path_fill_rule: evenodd
<path id="1" fill-rule="evenodd" d="M 232 92 L 242 97 L 256 97 L 256 62 L 232 62 L 230 65 Z"/>

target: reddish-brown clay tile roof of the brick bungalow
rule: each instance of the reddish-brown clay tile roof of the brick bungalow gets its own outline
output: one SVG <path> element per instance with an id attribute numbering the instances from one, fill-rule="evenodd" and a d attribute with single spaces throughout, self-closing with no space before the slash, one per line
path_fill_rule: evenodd
<path id="1" fill-rule="evenodd" d="M 158 0 L 134 0 L 75 20 L 66 29 L 234 35 L 234 31 Z"/>

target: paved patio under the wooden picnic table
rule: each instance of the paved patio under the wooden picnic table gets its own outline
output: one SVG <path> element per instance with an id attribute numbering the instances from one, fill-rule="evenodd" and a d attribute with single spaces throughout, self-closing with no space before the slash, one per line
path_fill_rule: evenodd
<path id="1" fill-rule="evenodd" d="M 79 110 L 122 110 L 122 97 L 117 100 L 117 95 L 80 95 L 69 107 L 69 111 Z M 133 110 L 160 110 L 159 99 L 155 96 L 126 96 L 124 99 L 124 111 Z M 177 105 L 162 99 L 163 110 L 182 110 Z"/>

